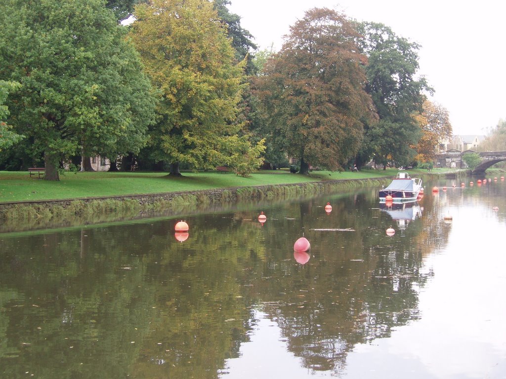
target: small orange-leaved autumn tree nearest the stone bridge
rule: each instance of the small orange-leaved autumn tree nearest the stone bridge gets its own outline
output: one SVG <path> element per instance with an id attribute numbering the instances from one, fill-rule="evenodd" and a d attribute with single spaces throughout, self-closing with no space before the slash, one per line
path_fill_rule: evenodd
<path id="1" fill-rule="evenodd" d="M 419 116 L 421 137 L 415 146 L 418 162 L 432 162 L 440 152 L 440 146 L 449 140 L 452 128 L 448 111 L 437 103 L 426 100 Z"/>

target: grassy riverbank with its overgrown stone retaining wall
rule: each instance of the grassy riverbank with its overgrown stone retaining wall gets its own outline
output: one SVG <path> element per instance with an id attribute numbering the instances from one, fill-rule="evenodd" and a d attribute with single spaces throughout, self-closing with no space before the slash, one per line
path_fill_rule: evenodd
<path id="1" fill-rule="evenodd" d="M 316 171 L 303 176 L 278 170 L 248 178 L 215 172 L 185 173 L 179 178 L 166 173 L 96 172 L 67 173 L 60 182 L 26 178 L 26 173 L 0 172 L 0 232 L 176 216 L 194 209 L 205 211 L 216 204 L 318 195 L 385 184 L 397 172 Z M 445 173 L 410 172 L 413 176 Z M 95 196 L 86 196 L 91 194 Z M 23 200 L 6 201 L 9 198 Z"/>

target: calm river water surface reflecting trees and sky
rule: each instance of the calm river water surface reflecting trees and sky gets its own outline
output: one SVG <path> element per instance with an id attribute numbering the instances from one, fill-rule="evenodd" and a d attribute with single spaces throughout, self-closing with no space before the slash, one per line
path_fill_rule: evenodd
<path id="1" fill-rule="evenodd" d="M 0 234 L 0 377 L 505 378 L 506 183 L 469 180 Z"/>

